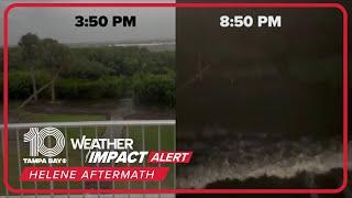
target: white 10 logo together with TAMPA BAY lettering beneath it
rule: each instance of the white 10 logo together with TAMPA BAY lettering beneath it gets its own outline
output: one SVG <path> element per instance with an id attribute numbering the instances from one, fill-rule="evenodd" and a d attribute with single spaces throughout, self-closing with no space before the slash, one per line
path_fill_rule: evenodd
<path id="1" fill-rule="evenodd" d="M 55 139 L 55 141 L 51 141 L 51 139 Z M 45 145 L 45 140 L 50 142 L 48 145 Z M 63 152 L 66 143 L 64 134 L 56 128 L 47 127 L 42 130 L 30 128 L 29 132 L 23 135 L 23 142 L 30 143 L 30 157 L 23 158 L 24 163 L 59 164 L 67 162 L 66 158 L 54 158 Z M 45 157 L 40 157 L 40 155 Z"/>

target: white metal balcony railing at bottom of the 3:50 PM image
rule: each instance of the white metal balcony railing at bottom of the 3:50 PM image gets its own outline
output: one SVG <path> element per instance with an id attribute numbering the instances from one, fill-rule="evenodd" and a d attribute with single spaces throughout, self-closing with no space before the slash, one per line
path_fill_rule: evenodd
<path id="1" fill-rule="evenodd" d="M 161 152 L 162 151 L 162 127 L 163 125 L 173 125 L 174 127 L 174 150 L 176 150 L 176 129 L 175 129 L 175 121 L 174 120 L 132 120 L 132 121 L 128 121 L 128 120 L 122 120 L 122 121 L 85 121 L 85 122 L 47 122 L 47 123 L 10 123 L 9 124 L 9 129 L 13 129 L 15 130 L 15 135 L 16 135 L 16 154 L 18 154 L 18 168 L 19 168 L 19 175 L 21 175 L 22 172 L 22 156 L 21 156 L 21 140 L 20 140 L 20 130 L 28 130 L 29 128 L 45 128 L 45 127 L 56 127 L 56 128 L 63 128 L 64 129 L 64 134 L 66 136 L 66 141 L 69 141 L 69 134 L 68 134 L 68 128 L 77 128 L 79 129 L 79 136 L 82 136 L 84 134 L 84 128 L 85 127 L 89 127 L 89 128 L 94 128 L 95 127 L 95 136 L 98 138 L 98 128 L 99 127 L 124 127 L 123 129 L 125 129 L 125 134 L 127 134 L 127 139 L 130 138 L 130 127 L 141 127 L 141 135 L 142 135 L 142 151 L 146 150 L 146 134 L 145 134 L 145 127 L 157 127 L 157 151 Z M 0 125 L 3 127 L 3 125 Z M 168 131 L 168 130 L 167 130 Z M 113 133 L 110 134 L 111 139 L 113 138 Z M 48 146 L 52 146 L 52 139 L 48 139 Z M 2 147 L 3 148 L 3 147 Z M 128 153 L 130 153 L 131 151 L 128 150 Z M 85 151 L 81 150 L 80 151 L 80 165 L 84 167 L 85 166 Z M 68 157 L 69 157 L 69 146 L 65 147 L 65 157 L 66 157 L 66 167 L 69 167 L 69 163 L 68 163 Z M 79 158 L 77 158 L 79 161 Z M 129 167 L 131 166 L 129 163 L 127 164 Z M 33 166 L 35 167 L 36 165 L 33 164 Z M 97 167 L 99 167 L 100 164 L 97 163 Z M 112 162 L 111 166 L 114 166 L 114 163 Z M 143 167 L 146 166 L 146 162 L 143 162 Z M 158 167 L 162 167 L 162 164 L 158 163 L 157 164 Z M 50 167 L 53 167 L 53 164 L 50 164 Z M 22 183 L 21 180 L 19 180 L 19 185 L 20 188 L 23 189 L 24 188 L 24 183 Z M 158 189 L 162 189 L 162 182 L 158 182 Z M 34 187 L 35 189 L 38 189 L 38 185 L 37 182 L 34 182 Z M 53 180 L 50 182 L 50 189 L 54 189 L 55 187 L 55 183 Z M 176 166 L 174 164 L 174 187 L 176 188 Z M 81 188 L 86 189 L 86 183 L 85 180 L 81 182 Z M 101 189 L 101 183 L 97 182 L 97 188 Z M 116 189 L 116 182 L 112 182 L 112 188 Z M 146 189 L 147 185 L 146 182 L 143 182 L 143 189 Z M 67 189 L 70 189 L 70 182 L 67 182 Z M 128 189 L 131 189 L 131 182 L 128 182 Z M 9 195 L 8 190 L 7 190 L 7 195 Z M 23 194 L 21 194 L 23 196 Z M 21 197 L 22 197 L 21 196 Z M 36 194 L 35 194 L 36 196 Z M 53 196 L 53 194 L 51 194 L 51 196 Z M 86 197 L 86 195 L 82 195 L 84 197 Z M 100 194 L 98 194 L 98 197 L 100 196 Z M 67 197 L 70 197 L 70 195 L 68 194 Z M 113 195 L 114 197 L 114 195 Z M 128 195 L 128 197 L 130 197 L 130 194 Z M 143 194 L 143 197 L 146 197 L 145 194 Z M 158 197 L 162 197 L 162 194 L 158 194 Z"/>

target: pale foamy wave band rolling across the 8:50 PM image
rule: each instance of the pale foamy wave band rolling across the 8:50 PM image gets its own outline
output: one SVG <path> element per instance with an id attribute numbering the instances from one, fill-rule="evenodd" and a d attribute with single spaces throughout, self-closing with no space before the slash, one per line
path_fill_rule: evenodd
<path id="1" fill-rule="evenodd" d="M 178 187 L 205 188 L 218 180 L 245 180 L 264 175 L 292 178 L 301 172 L 323 174 L 342 167 L 341 141 L 278 141 L 263 146 L 260 142 L 228 142 L 226 147 L 207 153 L 196 165 L 186 167 L 183 177 L 177 178 Z"/>

